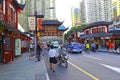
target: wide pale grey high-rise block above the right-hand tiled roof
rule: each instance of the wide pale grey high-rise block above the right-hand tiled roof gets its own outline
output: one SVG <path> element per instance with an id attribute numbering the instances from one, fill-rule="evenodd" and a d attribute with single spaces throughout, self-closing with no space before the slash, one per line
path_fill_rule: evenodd
<path id="1" fill-rule="evenodd" d="M 111 20 L 112 0 L 83 0 L 81 2 L 81 21 L 92 23 Z M 86 18 L 86 19 L 85 19 Z"/>

